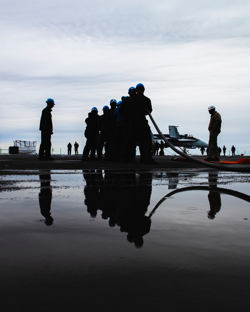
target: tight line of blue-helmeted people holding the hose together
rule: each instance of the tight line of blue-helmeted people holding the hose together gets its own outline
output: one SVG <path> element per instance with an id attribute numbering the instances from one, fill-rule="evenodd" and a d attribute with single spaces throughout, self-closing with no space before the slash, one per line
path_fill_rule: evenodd
<path id="1" fill-rule="evenodd" d="M 146 115 L 152 112 L 152 104 L 139 83 L 128 89 L 128 96 L 120 101 L 110 100 L 110 107 L 103 107 L 103 115 L 93 107 L 85 119 L 84 135 L 87 139 L 82 161 L 136 162 L 136 146 L 139 145 L 140 163 L 158 164 L 152 158 L 152 137 Z M 105 150 L 103 157 L 103 147 Z M 97 153 L 97 158 L 96 158 Z M 90 154 L 90 157 L 88 155 Z"/>

